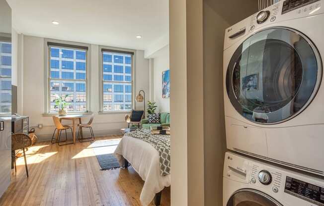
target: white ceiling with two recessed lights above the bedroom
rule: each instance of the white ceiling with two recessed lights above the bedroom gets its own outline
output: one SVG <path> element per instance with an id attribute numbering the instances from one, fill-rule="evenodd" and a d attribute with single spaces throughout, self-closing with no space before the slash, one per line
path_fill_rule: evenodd
<path id="1" fill-rule="evenodd" d="M 168 35 L 168 0 L 7 2 L 13 28 L 25 35 L 136 50 L 147 50 Z"/>

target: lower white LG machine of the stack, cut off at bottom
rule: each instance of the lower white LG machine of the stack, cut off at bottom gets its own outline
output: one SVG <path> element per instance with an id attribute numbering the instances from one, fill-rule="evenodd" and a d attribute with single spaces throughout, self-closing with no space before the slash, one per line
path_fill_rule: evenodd
<path id="1" fill-rule="evenodd" d="M 324 206 L 324 180 L 225 154 L 223 206 Z"/>

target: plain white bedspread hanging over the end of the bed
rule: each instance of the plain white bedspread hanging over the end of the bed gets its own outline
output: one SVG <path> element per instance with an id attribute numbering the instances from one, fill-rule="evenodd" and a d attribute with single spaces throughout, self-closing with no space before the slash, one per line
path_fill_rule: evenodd
<path id="1" fill-rule="evenodd" d="M 114 154 L 121 166 L 125 157 L 145 181 L 140 197 L 143 206 L 148 206 L 156 193 L 170 186 L 170 174 L 160 175 L 159 152 L 149 143 L 125 134 Z"/>

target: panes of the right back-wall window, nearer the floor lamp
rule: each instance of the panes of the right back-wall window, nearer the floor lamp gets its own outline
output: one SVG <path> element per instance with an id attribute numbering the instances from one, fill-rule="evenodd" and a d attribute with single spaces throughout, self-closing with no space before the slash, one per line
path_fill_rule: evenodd
<path id="1" fill-rule="evenodd" d="M 101 50 L 102 111 L 132 109 L 132 53 Z"/>

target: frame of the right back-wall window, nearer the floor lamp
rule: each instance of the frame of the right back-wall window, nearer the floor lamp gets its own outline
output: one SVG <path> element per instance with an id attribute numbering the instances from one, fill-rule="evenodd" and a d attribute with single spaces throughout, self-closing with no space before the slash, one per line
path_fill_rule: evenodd
<path id="1" fill-rule="evenodd" d="M 112 81 L 112 80 L 103 80 L 103 50 L 111 50 L 110 52 L 112 53 L 120 53 L 125 55 L 126 53 L 130 53 L 132 52 L 133 54 L 131 55 L 131 81 L 130 82 L 126 82 L 126 81 Z M 109 52 L 109 51 L 108 51 Z M 134 109 L 135 106 L 135 99 L 134 99 L 134 91 L 136 91 L 136 51 L 135 50 L 129 50 L 129 49 L 120 49 L 120 48 L 113 48 L 113 47 L 105 47 L 105 46 L 99 46 L 99 112 L 98 114 L 118 114 L 118 113 L 129 113 L 132 109 Z M 113 59 L 112 59 L 113 61 Z M 112 62 L 113 63 L 113 62 Z M 125 64 L 125 63 L 124 63 Z M 113 72 L 113 68 L 112 68 L 112 72 Z M 112 74 L 113 75 L 113 74 Z M 131 93 L 128 93 L 131 95 L 131 109 L 129 110 L 119 110 L 119 111 L 104 111 L 103 110 L 103 84 L 107 82 L 110 83 L 130 83 L 131 84 L 131 88 L 132 91 Z M 124 86 L 124 90 L 125 90 L 125 86 Z M 112 97 L 114 96 L 114 94 L 111 94 Z M 125 97 L 124 97 L 125 98 Z"/>

